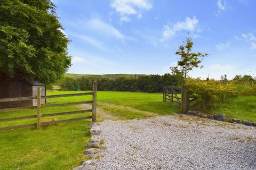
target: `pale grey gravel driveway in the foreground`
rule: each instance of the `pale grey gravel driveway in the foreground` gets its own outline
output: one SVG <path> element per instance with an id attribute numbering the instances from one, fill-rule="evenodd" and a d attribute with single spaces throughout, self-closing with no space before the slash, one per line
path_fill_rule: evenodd
<path id="1" fill-rule="evenodd" d="M 256 169 L 256 128 L 171 115 L 101 122 L 97 169 Z"/>

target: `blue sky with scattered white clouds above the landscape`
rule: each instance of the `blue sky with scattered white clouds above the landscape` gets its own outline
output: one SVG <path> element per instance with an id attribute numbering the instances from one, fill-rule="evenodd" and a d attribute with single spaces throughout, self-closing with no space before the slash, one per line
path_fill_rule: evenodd
<path id="1" fill-rule="evenodd" d="M 193 78 L 256 76 L 254 0 L 54 0 L 71 40 L 69 73 L 170 73 L 190 32 L 209 53 Z"/>

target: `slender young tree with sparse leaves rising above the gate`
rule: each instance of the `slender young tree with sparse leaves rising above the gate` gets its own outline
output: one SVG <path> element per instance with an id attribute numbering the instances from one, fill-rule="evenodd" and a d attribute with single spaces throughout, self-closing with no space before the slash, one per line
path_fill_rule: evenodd
<path id="1" fill-rule="evenodd" d="M 200 67 L 202 68 L 203 65 L 200 65 L 203 58 L 206 57 L 207 53 L 193 53 L 191 52 L 194 43 L 191 38 L 186 39 L 186 44 L 181 45 L 179 50 L 175 53 L 178 55 L 179 61 L 177 62 L 177 66 L 170 67 L 172 73 L 181 75 L 183 78 L 187 78 L 188 73 L 193 70 L 194 68 Z"/>

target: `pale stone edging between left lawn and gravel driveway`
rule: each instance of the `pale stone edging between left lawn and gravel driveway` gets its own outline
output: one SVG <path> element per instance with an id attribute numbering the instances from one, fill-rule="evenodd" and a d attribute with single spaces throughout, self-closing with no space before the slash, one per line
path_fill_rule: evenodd
<path id="1" fill-rule="evenodd" d="M 88 157 L 83 161 L 82 165 L 75 167 L 73 170 L 95 170 L 97 160 L 100 158 L 100 148 L 102 144 L 102 135 L 100 126 L 97 123 L 90 124 L 91 139 L 86 143 L 85 147 L 88 148 L 84 151 L 84 156 Z"/>

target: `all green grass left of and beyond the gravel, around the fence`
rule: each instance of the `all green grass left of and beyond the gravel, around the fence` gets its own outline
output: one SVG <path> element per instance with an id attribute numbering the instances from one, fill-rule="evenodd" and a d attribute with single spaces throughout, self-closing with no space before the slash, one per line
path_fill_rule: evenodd
<path id="1" fill-rule="evenodd" d="M 84 91 L 47 91 L 47 95 L 73 94 Z M 47 104 L 92 100 L 92 96 L 47 99 Z M 142 92 L 98 91 L 98 106 L 122 120 L 178 113 L 179 109 L 163 102 L 162 94 Z M 83 109 L 80 106 L 42 108 L 44 113 Z M 148 113 L 150 112 L 150 113 Z M 36 109 L 0 113 L 0 118 L 35 115 Z M 81 117 L 91 113 L 44 117 L 46 121 Z M 0 127 L 35 123 L 36 119 L 0 122 Z M 23 128 L 0 131 L 0 169 L 71 169 L 83 160 L 84 145 L 89 140 L 89 120 L 44 126 L 42 130 Z"/>

